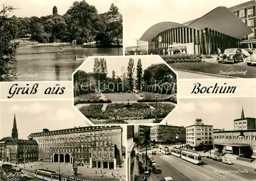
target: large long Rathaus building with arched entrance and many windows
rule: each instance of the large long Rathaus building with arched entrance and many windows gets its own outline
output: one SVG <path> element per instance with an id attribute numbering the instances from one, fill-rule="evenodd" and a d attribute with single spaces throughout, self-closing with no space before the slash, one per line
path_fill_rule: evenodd
<path id="1" fill-rule="evenodd" d="M 122 164 L 122 128 L 89 126 L 43 129 L 28 137 L 38 143 L 38 159 L 47 162 L 83 163 L 117 169 Z"/>

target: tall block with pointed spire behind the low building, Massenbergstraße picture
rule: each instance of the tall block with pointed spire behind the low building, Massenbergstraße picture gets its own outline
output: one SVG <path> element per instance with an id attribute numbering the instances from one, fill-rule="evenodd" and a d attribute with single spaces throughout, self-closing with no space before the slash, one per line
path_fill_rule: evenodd
<path id="1" fill-rule="evenodd" d="M 255 118 L 245 118 L 244 108 L 242 107 L 241 118 L 234 120 L 234 130 L 256 129 Z"/>

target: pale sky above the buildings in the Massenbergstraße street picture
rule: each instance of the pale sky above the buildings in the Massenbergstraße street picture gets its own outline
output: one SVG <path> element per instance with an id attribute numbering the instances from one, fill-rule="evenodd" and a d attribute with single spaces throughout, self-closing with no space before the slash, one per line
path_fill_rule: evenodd
<path id="1" fill-rule="evenodd" d="M 186 127 L 201 118 L 214 129 L 233 130 L 233 120 L 241 118 L 242 106 L 245 117 L 256 118 L 256 98 L 180 99 L 178 107 L 167 117 L 167 124 Z M 166 124 L 166 119 L 162 122 Z"/>

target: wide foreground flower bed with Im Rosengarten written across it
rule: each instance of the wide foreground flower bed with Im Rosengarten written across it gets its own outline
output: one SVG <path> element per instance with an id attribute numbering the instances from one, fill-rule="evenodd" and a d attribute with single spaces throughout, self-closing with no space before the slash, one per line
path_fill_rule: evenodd
<path id="1" fill-rule="evenodd" d="M 152 107 L 155 103 L 149 103 Z M 103 104 L 90 104 L 88 106 L 82 106 L 79 108 L 80 112 L 88 119 L 110 122 L 121 121 L 129 122 L 129 119 L 154 119 L 156 110 L 151 108 L 145 103 L 134 103 L 130 108 L 126 108 L 124 103 L 110 103 L 106 107 L 105 111 L 101 111 Z M 157 103 L 158 118 L 165 118 L 170 111 L 176 107 L 173 103 Z M 121 118 L 125 119 L 121 119 Z M 139 118 L 140 117 L 140 118 Z M 102 120 L 102 121 L 100 121 Z M 100 123 L 98 123 L 100 124 Z"/>

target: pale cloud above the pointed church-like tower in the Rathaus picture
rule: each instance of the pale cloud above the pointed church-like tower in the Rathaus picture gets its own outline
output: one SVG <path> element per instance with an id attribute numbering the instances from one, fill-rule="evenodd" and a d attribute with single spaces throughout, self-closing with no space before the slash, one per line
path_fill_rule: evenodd
<path id="1" fill-rule="evenodd" d="M 20 106 L 20 105 L 14 104 L 10 107 L 10 112 L 29 113 L 31 115 L 37 115 L 42 112 L 48 112 L 48 111 L 49 111 L 48 106 L 39 104 L 37 102 L 27 106 Z"/>

